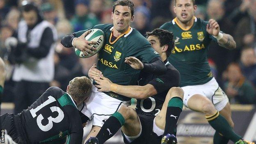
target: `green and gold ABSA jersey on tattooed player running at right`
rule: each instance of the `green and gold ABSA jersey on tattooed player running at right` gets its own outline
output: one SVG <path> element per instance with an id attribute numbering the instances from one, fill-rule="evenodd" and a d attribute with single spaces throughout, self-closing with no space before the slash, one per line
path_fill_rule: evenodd
<path id="1" fill-rule="evenodd" d="M 207 59 L 210 41 L 216 41 L 206 32 L 207 22 L 194 17 L 192 27 L 185 30 L 177 23 L 176 18 L 160 28 L 173 32 L 175 48 L 169 56 L 169 62 L 181 74 L 181 87 L 201 85 L 213 78 Z"/>

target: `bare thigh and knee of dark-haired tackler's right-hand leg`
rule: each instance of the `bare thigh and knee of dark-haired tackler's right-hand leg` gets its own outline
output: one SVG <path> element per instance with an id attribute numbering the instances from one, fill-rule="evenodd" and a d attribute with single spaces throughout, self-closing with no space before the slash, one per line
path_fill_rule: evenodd
<path id="1" fill-rule="evenodd" d="M 165 129 L 165 118 L 166 118 L 168 103 L 171 98 L 176 97 L 176 96 L 183 99 L 183 96 L 184 96 L 183 90 L 180 87 L 172 87 L 171 89 L 169 89 L 169 91 L 165 97 L 165 101 L 163 103 L 162 109 L 155 117 L 156 126 L 158 126 L 158 128 L 160 128 L 162 130 Z"/>

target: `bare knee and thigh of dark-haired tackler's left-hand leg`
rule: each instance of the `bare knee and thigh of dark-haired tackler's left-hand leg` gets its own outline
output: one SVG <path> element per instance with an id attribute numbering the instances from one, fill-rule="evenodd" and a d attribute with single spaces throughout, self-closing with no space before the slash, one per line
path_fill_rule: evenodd
<path id="1" fill-rule="evenodd" d="M 121 106 L 118 112 L 122 114 L 125 119 L 125 123 L 121 127 L 123 133 L 131 137 L 139 135 L 142 127 L 135 110 L 131 107 Z"/>

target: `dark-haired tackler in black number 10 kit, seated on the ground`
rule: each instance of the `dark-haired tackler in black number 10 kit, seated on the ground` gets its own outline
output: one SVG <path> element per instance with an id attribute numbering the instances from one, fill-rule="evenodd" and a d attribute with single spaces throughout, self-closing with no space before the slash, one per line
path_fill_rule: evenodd
<path id="1" fill-rule="evenodd" d="M 176 144 L 176 126 L 183 107 L 183 90 L 179 88 L 179 72 L 168 62 L 167 57 L 174 48 L 173 34 L 167 30 L 155 29 L 147 32 L 148 41 L 160 54 L 167 71 L 153 74 L 142 71 L 139 86 L 123 86 L 112 83 L 101 76 L 100 71 L 92 67 L 89 75 L 94 78 L 98 91 L 114 91 L 130 98 L 137 98 L 136 112 L 131 107 L 122 106 L 118 112 L 107 119 L 96 136 L 99 144 L 122 129 L 126 144 Z M 135 57 L 128 57 L 126 62 L 134 69 L 143 64 Z M 170 135 L 173 134 L 173 135 Z M 90 138 L 93 144 L 96 138 Z"/>

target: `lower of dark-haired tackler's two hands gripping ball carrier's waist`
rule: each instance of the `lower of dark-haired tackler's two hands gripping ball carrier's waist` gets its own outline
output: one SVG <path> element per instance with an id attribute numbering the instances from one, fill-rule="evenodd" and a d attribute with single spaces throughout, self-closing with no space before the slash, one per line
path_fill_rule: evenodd
<path id="1" fill-rule="evenodd" d="M 98 88 L 98 91 L 110 91 L 110 85 L 113 83 L 108 78 L 104 77 L 103 75 L 99 75 L 99 77 L 94 78 L 95 82 L 98 85 L 94 85 Z"/>

